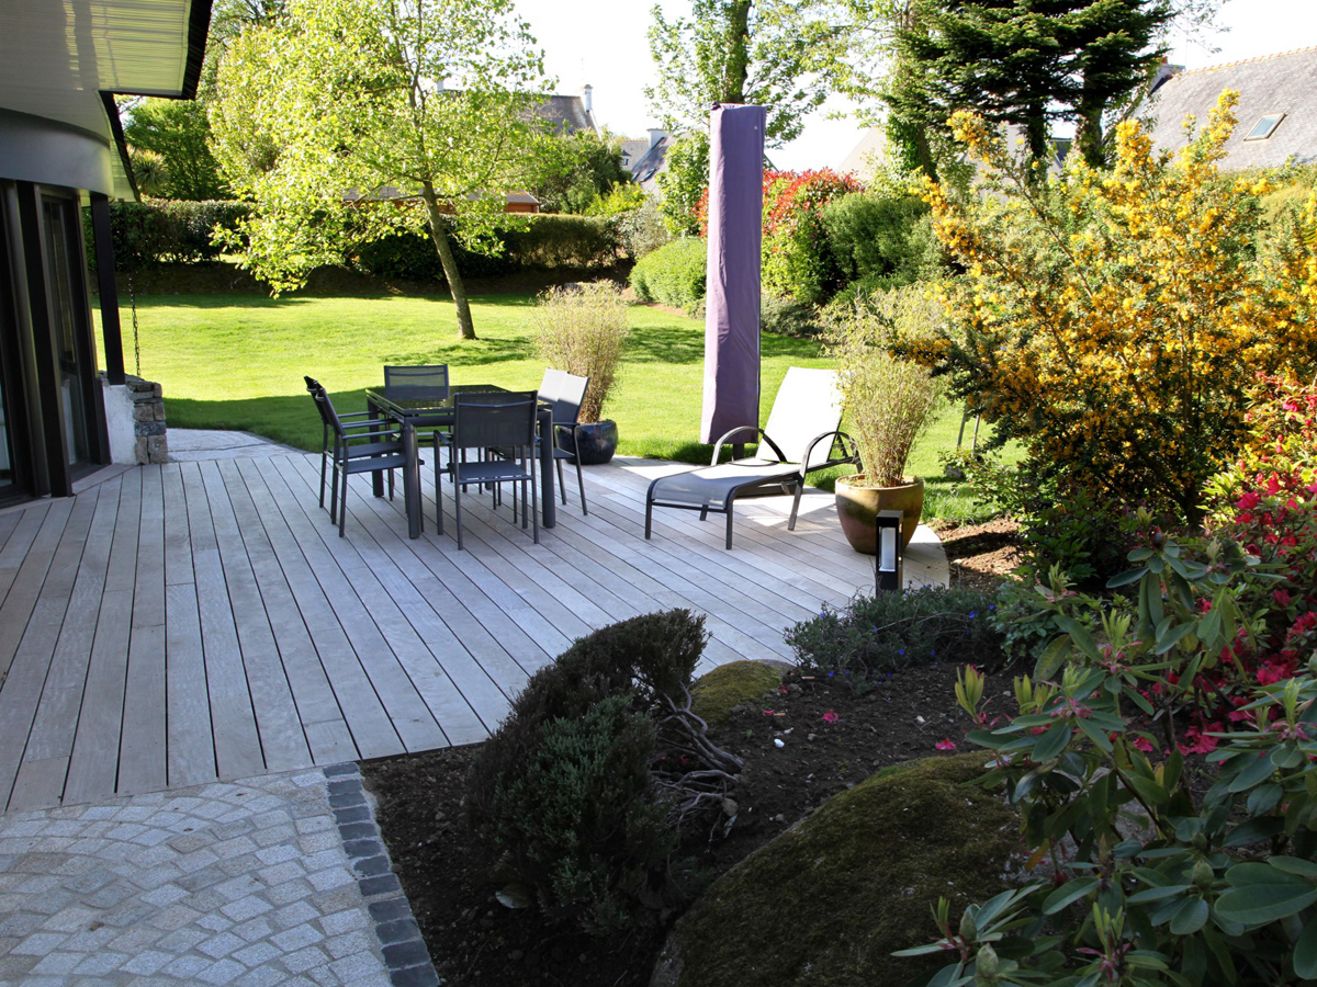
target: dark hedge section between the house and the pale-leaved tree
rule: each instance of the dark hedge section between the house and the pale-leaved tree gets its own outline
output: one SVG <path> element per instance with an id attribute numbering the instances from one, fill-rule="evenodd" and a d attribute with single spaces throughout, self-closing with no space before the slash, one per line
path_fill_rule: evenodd
<path id="1" fill-rule="evenodd" d="M 112 201 L 109 228 L 115 242 L 115 268 L 141 270 L 159 263 L 216 261 L 220 247 L 212 243 L 216 228 L 236 230 L 252 212 L 250 203 Z M 91 217 L 86 217 L 87 258 L 95 263 Z"/>

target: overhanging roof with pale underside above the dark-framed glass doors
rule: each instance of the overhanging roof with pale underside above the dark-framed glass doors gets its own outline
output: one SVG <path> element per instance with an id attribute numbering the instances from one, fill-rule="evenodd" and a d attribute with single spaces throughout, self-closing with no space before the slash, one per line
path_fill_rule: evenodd
<path id="1" fill-rule="evenodd" d="M 87 168 L 103 178 L 86 187 L 132 196 L 111 93 L 191 99 L 209 21 L 211 0 L 0 4 L 0 109 L 20 114 L 7 128 L 25 141 L 40 121 L 84 134 L 103 147 Z"/>

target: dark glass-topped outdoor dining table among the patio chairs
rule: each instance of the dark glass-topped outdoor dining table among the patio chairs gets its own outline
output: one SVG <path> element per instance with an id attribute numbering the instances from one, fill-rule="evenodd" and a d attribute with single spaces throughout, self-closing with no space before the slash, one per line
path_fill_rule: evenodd
<path id="1" fill-rule="evenodd" d="M 370 387 L 366 388 L 366 409 L 378 417 L 387 417 L 402 425 L 403 451 L 408 468 L 403 470 L 403 501 L 407 505 L 407 537 L 421 533 L 420 454 L 416 429 L 452 428 L 453 396 L 457 393 L 499 393 L 507 388 L 498 384 L 454 384 L 437 390 L 427 387 Z M 553 491 L 553 407 L 540 404 L 536 413 L 540 434 L 540 504 L 545 528 L 558 522 L 557 501 Z M 437 455 L 437 453 L 436 453 Z M 378 472 L 371 475 L 377 497 L 385 496 L 385 480 Z"/>

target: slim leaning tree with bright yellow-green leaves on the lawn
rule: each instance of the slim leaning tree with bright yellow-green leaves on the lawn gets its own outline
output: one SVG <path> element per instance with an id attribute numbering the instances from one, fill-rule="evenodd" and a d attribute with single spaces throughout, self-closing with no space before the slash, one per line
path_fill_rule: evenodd
<path id="1" fill-rule="evenodd" d="M 220 163 L 255 203 L 244 265 L 294 288 L 350 241 L 428 229 L 475 338 L 452 238 L 497 249 L 539 128 L 532 45 L 512 0 L 290 0 L 244 30 L 211 112 Z M 379 201 L 399 196 L 423 209 Z"/>

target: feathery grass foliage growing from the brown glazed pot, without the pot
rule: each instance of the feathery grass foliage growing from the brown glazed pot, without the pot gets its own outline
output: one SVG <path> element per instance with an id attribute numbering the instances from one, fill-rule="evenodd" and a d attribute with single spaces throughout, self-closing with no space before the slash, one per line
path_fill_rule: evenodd
<path id="1" fill-rule="evenodd" d="M 927 336 L 943 317 L 922 288 L 897 288 L 835 316 L 826 332 L 867 486 L 901 486 L 910 450 L 936 417 L 942 382 L 893 347 Z"/>

